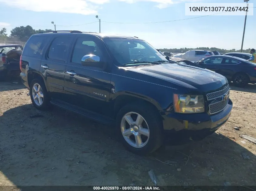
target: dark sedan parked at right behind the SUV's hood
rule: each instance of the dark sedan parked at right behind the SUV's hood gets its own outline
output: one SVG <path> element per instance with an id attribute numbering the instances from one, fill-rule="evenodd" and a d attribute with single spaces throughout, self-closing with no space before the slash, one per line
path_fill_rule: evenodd
<path id="1" fill-rule="evenodd" d="M 195 63 L 225 76 L 228 81 L 233 81 L 238 87 L 256 82 L 256 64 L 238 57 L 216 55 Z"/>

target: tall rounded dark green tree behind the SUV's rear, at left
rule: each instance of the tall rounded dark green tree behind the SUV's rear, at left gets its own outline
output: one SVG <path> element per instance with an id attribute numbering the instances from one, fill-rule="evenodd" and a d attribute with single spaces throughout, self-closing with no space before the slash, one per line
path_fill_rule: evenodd
<path id="1" fill-rule="evenodd" d="M 11 30 L 10 37 L 16 37 L 20 41 L 25 42 L 29 39 L 29 37 L 31 37 L 35 33 L 36 33 L 35 29 L 33 29 L 29 25 L 27 25 L 26 27 L 20 26 L 20 27 L 15 27 L 14 29 Z"/>

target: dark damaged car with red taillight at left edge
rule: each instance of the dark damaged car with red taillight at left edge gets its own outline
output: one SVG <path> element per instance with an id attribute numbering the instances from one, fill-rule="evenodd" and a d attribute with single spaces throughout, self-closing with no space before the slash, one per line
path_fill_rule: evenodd
<path id="1" fill-rule="evenodd" d="M 0 44 L 0 80 L 12 72 L 20 73 L 19 61 L 23 47 L 18 44 Z"/>

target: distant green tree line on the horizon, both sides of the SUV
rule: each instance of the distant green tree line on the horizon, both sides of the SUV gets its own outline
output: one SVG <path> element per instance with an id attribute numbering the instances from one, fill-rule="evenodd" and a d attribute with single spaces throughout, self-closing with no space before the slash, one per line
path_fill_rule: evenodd
<path id="1" fill-rule="evenodd" d="M 26 42 L 29 37 L 33 34 L 37 33 L 42 33 L 42 32 L 47 32 L 47 31 L 52 31 L 51 29 L 39 29 L 35 30 L 33 29 L 30 25 L 27 26 L 20 26 L 20 27 L 15 27 L 11 30 L 11 34 L 8 36 L 6 33 L 6 28 L 2 28 L 0 30 L 0 41 L 19 41 L 19 42 Z M 219 49 L 216 47 L 198 47 L 198 48 L 180 48 L 180 49 L 160 49 L 161 52 L 171 52 L 171 53 L 185 53 L 188 50 L 191 49 L 197 49 L 197 50 L 217 50 L 220 53 L 231 53 L 231 52 L 240 52 L 240 50 L 226 50 L 226 49 Z M 249 53 L 250 49 L 243 50 L 243 52 Z"/>

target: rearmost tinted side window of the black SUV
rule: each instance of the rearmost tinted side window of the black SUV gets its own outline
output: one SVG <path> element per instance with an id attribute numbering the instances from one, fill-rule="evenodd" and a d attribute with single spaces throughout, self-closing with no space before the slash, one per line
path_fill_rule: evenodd
<path id="1" fill-rule="evenodd" d="M 22 54 L 25 56 L 38 57 L 45 46 L 46 38 L 47 37 L 31 37 L 28 43 L 26 43 Z"/>

